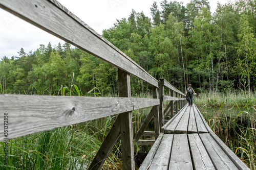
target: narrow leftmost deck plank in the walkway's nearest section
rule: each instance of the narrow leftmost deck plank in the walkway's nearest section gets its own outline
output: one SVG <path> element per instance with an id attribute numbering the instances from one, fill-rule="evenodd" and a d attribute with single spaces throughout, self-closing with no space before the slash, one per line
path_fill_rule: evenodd
<path id="1" fill-rule="evenodd" d="M 150 164 L 151 164 L 151 162 L 152 162 L 152 160 L 153 160 L 153 158 L 156 154 L 156 151 L 157 151 L 157 149 L 160 145 L 160 142 L 161 142 L 162 138 L 163 138 L 163 133 L 160 133 L 158 138 L 156 139 L 155 143 L 153 144 L 150 152 L 148 152 L 145 160 L 142 162 L 139 170 L 145 170 L 150 166 Z"/>

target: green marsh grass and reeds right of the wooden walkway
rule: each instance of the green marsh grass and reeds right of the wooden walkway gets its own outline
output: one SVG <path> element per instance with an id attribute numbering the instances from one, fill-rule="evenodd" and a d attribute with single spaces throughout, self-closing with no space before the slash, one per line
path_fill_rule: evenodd
<path id="1" fill-rule="evenodd" d="M 195 98 L 208 125 L 250 169 L 256 169 L 256 96 L 245 91 Z M 216 106 L 218 109 L 216 109 Z"/>

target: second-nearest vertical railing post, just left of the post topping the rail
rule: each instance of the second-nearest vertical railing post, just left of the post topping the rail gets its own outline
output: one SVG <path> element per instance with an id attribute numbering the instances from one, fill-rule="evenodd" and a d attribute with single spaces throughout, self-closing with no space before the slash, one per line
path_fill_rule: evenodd
<path id="1" fill-rule="evenodd" d="M 152 93 L 153 93 L 153 99 L 157 99 L 157 87 L 152 87 Z M 153 106 L 153 112 L 154 112 L 154 124 L 155 124 L 155 139 L 159 136 L 160 133 L 160 122 L 159 122 L 159 110 L 158 106 Z"/>

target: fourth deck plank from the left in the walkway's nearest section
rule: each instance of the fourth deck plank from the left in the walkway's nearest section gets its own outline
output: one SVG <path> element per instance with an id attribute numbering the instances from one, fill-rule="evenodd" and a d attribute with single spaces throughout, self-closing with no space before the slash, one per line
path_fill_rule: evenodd
<path id="1" fill-rule="evenodd" d="M 188 139 L 194 169 L 214 170 L 214 164 L 212 164 L 210 157 L 207 154 L 199 135 L 188 134 Z"/>

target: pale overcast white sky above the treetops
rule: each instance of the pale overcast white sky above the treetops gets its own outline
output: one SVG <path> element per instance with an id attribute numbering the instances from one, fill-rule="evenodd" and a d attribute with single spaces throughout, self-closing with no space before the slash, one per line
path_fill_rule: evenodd
<path id="1" fill-rule="evenodd" d="M 136 12 L 143 11 L 146 16 L 151 17 L 150 8 L 154 1 L 159 9 L 162 0 L 59 0 L 59 2 L 86 22 L 96 32 L 102 34 L 102 30 L 113 27 L 116 19 L 129 17 L 132 9 Z M 168 0 L 169 2 L 170 0 Z M 179 0 L 178 0 L 179 1 Z M 214 12 L 217 3 L 227 3 L 228 0 L 211 0 L 211 12 Z M 181 1 L 186 6 L 190 0 Z M 0 9 L 0 58 L 7 56 L 18 56 L 17 52 L 23 47 L 25 52 L 35 51 L 39 44 L 51 42 L 56 46 L 58 42 L 64 42 L 30 23 Z"/>

